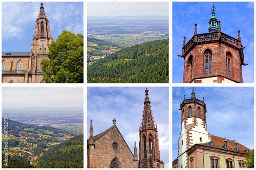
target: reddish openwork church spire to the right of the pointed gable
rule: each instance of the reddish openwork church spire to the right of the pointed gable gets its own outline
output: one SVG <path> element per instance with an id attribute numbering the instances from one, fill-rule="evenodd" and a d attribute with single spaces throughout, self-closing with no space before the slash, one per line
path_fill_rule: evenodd
<path id="1" fill-rule="evenodd" d="M 160 160 L 157 126 L 154 124 L 147 88 L 145 95 L 142 124 L 139 130 L 139 167 L 164 168 L 164 163 Z"/>

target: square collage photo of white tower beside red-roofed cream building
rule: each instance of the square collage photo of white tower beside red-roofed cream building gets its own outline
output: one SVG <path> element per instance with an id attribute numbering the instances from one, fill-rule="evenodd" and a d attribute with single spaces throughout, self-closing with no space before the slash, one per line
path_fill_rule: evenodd
<path id="1" fill-rule="evenodd" d="M 172 90 L 173 168 L 253 167 L 253 86 Z"/>

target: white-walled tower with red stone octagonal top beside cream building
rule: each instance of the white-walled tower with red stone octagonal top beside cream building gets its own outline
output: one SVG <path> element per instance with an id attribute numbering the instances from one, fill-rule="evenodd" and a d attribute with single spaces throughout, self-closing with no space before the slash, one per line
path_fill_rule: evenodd
<path id="1" fill-rule="evenodd" d="M 178 141 L 178 167 L 188 167 L 186 151 L 196 143 L 205 143 L 211 140 L 206 126 L 206 104 L 196 99 L 194 88 L 190 99 L 184 99 L 180 104 L 181 131 Z"/>

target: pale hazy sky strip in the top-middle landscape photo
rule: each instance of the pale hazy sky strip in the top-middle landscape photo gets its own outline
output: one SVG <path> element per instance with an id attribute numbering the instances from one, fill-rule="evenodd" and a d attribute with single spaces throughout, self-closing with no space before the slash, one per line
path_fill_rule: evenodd
<path id="1" fill-rule="evenodd" d="M 168 2 L 88 2 L 88 16 L 169 15 Z"/>

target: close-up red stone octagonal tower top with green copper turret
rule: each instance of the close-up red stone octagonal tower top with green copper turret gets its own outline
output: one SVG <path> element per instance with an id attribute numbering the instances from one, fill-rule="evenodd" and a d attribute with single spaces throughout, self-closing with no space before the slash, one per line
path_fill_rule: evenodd
<path id="1" fill-rule="evenodd" d="M 182 55 L 184 59 L 183 83 L 243 83 L 244 62 L 240 30 L 238 38 L 221 32 L 221 21 L 215 16 L 212 6 L 208 33 L 198 34 L 195 23 L 194 36 L 186 43 L 184 37 Z"/>

